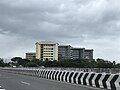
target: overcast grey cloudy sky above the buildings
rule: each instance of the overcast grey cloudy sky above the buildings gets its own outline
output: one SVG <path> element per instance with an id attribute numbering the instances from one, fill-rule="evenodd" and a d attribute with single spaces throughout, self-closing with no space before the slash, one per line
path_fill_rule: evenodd
<path id="1" fill-rule="evenodd" d="M 0 57 L 24 58 L 37 41 L 120 63 L 120 0 L 0 0 Z"/>

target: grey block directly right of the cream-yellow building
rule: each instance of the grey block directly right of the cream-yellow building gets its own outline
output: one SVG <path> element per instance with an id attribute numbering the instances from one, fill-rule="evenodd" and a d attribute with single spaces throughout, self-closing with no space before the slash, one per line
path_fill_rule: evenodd
<path id="1" fill-rule="evenodd" d="M 60 45 L 58 46 L 58 58 L 59 60 L 71 59 L 71 46 Z"/>

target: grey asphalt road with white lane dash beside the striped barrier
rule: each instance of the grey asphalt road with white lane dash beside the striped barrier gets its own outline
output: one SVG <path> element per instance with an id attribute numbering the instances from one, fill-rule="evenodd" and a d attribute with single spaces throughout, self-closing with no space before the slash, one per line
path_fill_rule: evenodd
<path id="1" fill-rule="evenodd" d="M 0 90 L 103 90 L 0 70 Z"/>

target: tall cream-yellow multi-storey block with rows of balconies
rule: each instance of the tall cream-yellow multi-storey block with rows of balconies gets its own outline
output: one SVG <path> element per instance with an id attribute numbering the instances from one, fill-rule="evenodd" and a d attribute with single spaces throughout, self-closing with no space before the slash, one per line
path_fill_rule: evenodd
<path id="1" fill-rule="evenodd" d="M 36 58 L 39 60 L 58 60 L 58 43 L 41 41 L 36 43 Z"/>

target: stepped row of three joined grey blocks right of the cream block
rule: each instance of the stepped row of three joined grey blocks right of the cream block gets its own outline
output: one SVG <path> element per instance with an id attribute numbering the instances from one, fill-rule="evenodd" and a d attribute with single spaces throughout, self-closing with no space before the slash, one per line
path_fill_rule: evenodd
<path id="1" fill-rule="evenodd" d="M 64 59 L 93 59 L 93 49 L 73 48 L 68 46 L 58 47 L 59 60 Z"/>

